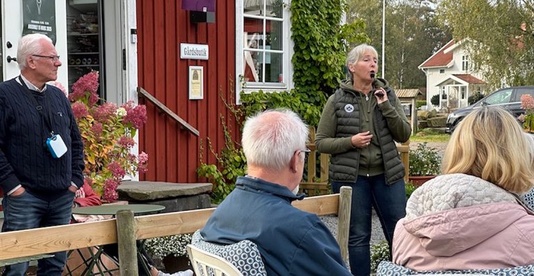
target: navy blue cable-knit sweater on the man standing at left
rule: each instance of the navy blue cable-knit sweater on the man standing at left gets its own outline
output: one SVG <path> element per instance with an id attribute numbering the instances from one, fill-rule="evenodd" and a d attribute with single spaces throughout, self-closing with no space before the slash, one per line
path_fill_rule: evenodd
<path id="1" fill-rule="evenodd" d="M 42 105 L 43 114 L 50 109 L 52 128 L 67 146 L 62 157 L 49 153 L 48 127 L 28 94 Z M 30 91 L 15 78 L 0 83 L 0 186 L 4 196 L 22 184 L 35 196 L 54 198 L 67 192 L 71 181 L 82 186 L 83 167 L 83 143 L 63 92 L 51 85 L 42 93 Z"/>

